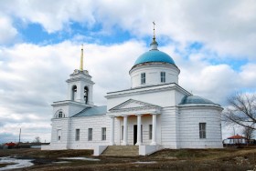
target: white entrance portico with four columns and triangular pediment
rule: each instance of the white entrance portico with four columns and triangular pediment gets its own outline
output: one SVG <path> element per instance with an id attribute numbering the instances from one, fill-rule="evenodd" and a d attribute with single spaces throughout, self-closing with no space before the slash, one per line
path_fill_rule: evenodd
<path id="1" fill-rule="evenodd" d="M 144 102 L 130 99 L 121 105 L 109 110 L 108 116 L 111 117 L 111 145 L 115 145 L 114 122 L 119 120 L 120 142 L 121 145 L 153 145 L 156 143 L 156 120 L 160 115 L 161 107 L 147 104 Z M 143 130 L 144 129 L 144 130 Z M 143 141 L 144 134 L 147 141 Z M 116 139 L 116 141 L 118 141 Z M 133 142 L 133 143 L 132 143 Z"/>

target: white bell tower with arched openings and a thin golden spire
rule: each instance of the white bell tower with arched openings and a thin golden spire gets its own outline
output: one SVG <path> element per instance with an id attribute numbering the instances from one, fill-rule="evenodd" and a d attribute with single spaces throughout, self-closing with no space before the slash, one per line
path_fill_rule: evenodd
<path id="1" fill-rule="evenodd" d="M 94 83 L 91 81 L 89 72 L 83 69 L 83 45 L 80 53 L 80 69 L 75 69 L 66 82 L 68 83 L 69 100 L 93 106 L 92 88 Z"/>

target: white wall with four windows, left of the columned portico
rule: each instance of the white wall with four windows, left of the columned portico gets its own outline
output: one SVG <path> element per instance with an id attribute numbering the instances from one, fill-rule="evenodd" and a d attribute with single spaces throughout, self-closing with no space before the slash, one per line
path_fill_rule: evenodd
<path id="1" fill-rule="evenodd" d="M 106 140 L 101 140 L 101 127 L 106 127 Z M 116 123 L 115 123 L 116 127 Z M 88 141 L 88 128 L 92 128 L 92 140 Z M 58 130 L 61 140 L 58 140 Z M 80 129 L 80 140 L 76 141 L 76 129 Z M 95 146 L 110 144 L 109 116 L 82 116 L 52 119 L 52 132 L 48 149 L 93 149 Z"/>

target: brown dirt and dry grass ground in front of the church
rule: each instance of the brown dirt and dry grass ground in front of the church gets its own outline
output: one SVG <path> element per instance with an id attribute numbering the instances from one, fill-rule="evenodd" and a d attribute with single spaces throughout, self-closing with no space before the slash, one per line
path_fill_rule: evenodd
<path id="1" fill-rule="evenodd" d="M 16 170 L 256 170 L 256 148 L 164 149 L 150 156 L 91 156 L 91 150 L 41 151 L 5 149 L 1 156 L 34 159 L 34 166 Z M 100 161 L 64 160 L 85 156 Z M 55 163 L 69 161 L 69 163 Z M 3 167 L 4 165 L 0 165 Z"/>

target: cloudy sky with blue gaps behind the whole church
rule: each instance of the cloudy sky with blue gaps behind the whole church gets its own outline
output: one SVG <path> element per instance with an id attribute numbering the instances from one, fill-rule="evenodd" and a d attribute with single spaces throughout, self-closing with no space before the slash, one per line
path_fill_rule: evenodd
<path id="1" fill-rule="evenodd" d="M 21 141 L 50 140 L 50 105 L 67 98 L 81 44 L 95 105 L 129 88 L 153 21 L 159 49 L 173 57 L 187 91 L 222 106 L 236 91 L 256 93 L 254 0 L 1 0 L 0 143 L 18 141 L 19 128 Z"/>

